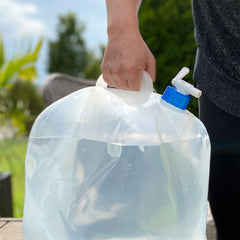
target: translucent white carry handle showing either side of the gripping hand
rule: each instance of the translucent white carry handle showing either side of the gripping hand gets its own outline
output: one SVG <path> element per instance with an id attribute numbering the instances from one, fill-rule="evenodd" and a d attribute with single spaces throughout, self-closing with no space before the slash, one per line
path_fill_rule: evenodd
<path id="1" fill-rule="evenodd" d="M 153 91 L 153 83 L 150 75 L 146 71 L 142 71 L 141 74 L 141 88 L 140 92 L 152 92 Z M 102 74 L 99 76 L 96 87 L 107 88 L 107 83 L 104 81 Z"/>

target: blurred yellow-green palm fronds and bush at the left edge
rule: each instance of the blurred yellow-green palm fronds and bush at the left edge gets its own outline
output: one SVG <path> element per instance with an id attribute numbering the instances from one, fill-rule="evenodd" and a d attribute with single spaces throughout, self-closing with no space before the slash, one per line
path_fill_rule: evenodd
<path id="1" fill-rule="evenodd" d="M 42 46 L 31 44 L 9 57 L 0 38 L 0 126 L 16 135 L 29 133 L 31 124 L 43 109 L 43 102 L 31 83 L 37 78 L 36 62 Z"/>

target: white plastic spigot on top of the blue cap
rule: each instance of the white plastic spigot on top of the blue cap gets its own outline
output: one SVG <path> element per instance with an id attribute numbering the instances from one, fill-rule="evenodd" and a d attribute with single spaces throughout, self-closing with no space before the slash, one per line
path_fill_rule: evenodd
<path id="1" fill-rule="evenodd" d="M 195 88 L 192 84 L 182 80 L 182 78 L 184 78 L 188 73 L 189 69 L 187 67 L 183 67 L 175 78 L 173 78 L 172 85 L 182 94 L 192 95 L 199 98 L 202 95 L 202 91 Z"/>

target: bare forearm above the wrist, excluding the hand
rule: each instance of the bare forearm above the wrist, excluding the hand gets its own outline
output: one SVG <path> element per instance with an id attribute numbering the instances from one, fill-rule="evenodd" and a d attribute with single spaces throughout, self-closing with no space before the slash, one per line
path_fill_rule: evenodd
<path id="1" fill-rule="evenodd" d="M 141 0 L 106 0 L 108 35 L 116 31 L 138 30 L 138 9 Z"/>

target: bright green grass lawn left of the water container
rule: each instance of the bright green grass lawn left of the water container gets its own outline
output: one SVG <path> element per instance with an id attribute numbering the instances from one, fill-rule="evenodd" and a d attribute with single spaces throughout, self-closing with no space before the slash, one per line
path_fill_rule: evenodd
<path id="1" fill-rule="evenodd" d="M 23 216 L 27 139 L 0 141 L 0 171 L 12 174 L 13 216 Z"/>

